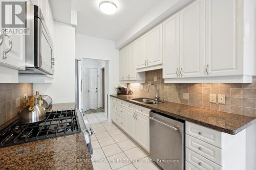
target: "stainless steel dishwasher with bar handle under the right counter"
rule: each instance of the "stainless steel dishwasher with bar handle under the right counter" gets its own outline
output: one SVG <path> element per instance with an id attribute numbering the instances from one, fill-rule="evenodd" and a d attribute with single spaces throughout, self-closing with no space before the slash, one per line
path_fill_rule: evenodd
<path id="1" fill-rule="evenodd" d="M 150 112 L 150 157 L 164 170 L 184 169 L 184 120 Z"/>

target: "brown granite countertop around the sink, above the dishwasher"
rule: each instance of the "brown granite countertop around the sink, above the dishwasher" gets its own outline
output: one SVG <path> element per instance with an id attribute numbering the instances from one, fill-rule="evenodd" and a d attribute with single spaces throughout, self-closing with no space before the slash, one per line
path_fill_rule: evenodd
<path id="1" fill-rule="evenodd" d="M 142 98 L 134 95 L 110 95 L 114 98 L 137 104 L 188 122 L 193 122 L 211 129 L 235 135 L 248 126 L 256 123 L 256 117 L 226 113 L 216 110 L 204 109 L 178 103 L 165 102 L 164 104 L 145 104 L 133 101 Z"/>

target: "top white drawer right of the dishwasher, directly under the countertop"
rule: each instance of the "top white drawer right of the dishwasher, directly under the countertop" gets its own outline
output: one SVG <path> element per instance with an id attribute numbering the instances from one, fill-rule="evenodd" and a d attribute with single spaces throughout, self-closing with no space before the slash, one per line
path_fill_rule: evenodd
<path id="1" fill-rule="evenodd" d="M 220 131 L 186 122 L 186 134 L 222 148 L 222 133 Z"/>

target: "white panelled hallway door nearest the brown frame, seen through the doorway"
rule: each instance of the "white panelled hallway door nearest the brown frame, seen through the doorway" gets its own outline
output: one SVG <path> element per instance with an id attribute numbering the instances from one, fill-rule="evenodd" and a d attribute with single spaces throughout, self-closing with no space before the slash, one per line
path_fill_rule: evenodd
<path id="1" fill-rule="evenodd" d="M 89 68 L 89 108 L 98 108 L 98 69 Z"/>

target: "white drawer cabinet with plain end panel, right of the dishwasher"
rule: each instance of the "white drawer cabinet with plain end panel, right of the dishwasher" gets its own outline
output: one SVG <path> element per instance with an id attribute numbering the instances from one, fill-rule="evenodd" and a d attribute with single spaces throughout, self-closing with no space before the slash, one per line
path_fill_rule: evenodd
<path id="1" fill-rule="evenodd" d="M 246 129 L 236 135 L 186 122 L 186 170 L 246 169 Z"/>

